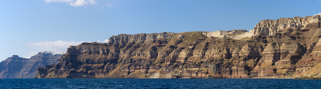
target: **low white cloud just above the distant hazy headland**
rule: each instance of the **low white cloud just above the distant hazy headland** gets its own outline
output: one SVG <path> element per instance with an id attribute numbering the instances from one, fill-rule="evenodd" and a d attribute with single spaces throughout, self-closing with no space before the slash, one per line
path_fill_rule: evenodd
<path id="1" fill-rule="evenodd" d="M 66 52 L 67 48 L 70 45 L 79 45 L 84 41 L 45 41 L 45 42 L 37 42 L 37 43 L 29 43 L 28 45 L 39 51 L 51 51 L 51 52 Z"/>

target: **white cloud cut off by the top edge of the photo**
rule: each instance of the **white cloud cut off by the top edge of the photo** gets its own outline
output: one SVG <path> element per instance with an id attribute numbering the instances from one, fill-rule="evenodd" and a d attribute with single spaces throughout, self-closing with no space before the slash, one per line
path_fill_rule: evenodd
<path id="1" fill-rule="evenodd" d="M 69 3 L 71 6 L 86 6 L 86 5 L 93 5 L 93 4 L 98 4 L 95 0 L 45 0 L 47 3 L 51 2 L 65 2 Z"/>

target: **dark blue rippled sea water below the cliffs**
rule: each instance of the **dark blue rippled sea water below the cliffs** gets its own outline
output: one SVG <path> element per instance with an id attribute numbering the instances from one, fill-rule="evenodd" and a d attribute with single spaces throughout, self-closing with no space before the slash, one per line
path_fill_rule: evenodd
<path id="1" fill-rule="evenodd" d="M 0 79 L 0 88 L 321 89 L 315 79 Z"/>

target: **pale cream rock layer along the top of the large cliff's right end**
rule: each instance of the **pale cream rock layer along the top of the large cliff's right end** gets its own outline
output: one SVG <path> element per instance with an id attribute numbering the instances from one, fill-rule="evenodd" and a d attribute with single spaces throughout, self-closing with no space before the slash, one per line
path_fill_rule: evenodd
<path id="1" fill-rule="evenodd" d="M 262 20 L 255 25 L 250 31 L 232 30 L 232 31 L 214 31 L 204 32 L 202 34 L 210 37 L 230 37 L 232 39 L 241 39 L 251 36 L 271 36 L 276 32 L 286 31 L 289 28 L 300 29 L 306 31 L 309 29 L 320 28 L 320 15 L 313 15 L 307 17 L 293 17 L 293 18 L 280 18 L 278 20 Z"/>

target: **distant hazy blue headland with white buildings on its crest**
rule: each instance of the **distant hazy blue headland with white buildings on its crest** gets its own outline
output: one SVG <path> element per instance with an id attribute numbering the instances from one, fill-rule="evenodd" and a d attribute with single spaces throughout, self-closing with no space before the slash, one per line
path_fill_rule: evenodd
<path id="1" fill-rule="evenodd" d="M 0 62 L 0 78 L 34 78 L 37 67 L 56 64 L 63 54 L 42 51 L 30 59 L 13 55 Z"/>

